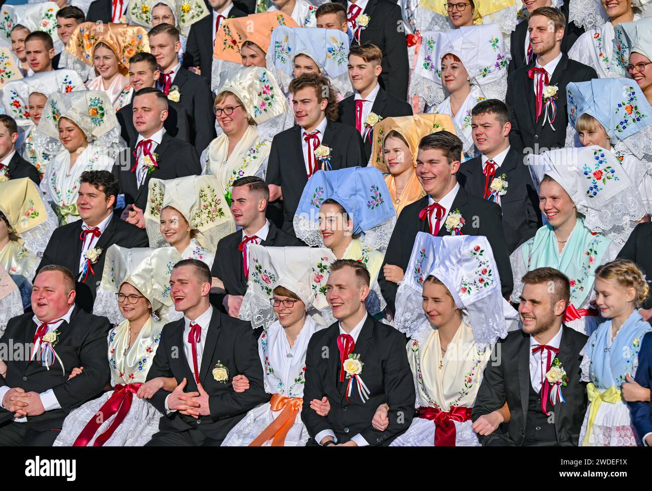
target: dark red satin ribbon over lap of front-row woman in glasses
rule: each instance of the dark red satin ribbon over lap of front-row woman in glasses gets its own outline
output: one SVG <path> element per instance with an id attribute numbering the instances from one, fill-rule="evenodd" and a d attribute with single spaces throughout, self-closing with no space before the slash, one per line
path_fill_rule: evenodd
<path id="1" fill-rule="evenodd" d="M 131 402 L 134 398 L 134 394 L 138 392 L 142 383 L 128 383 L 128 384 L 117 384 L 113 388 L 113 394 L 108 401 L 91 417 L 91 420 L 86 423 L 82 432 L 79 434 L 75 442 L 72 444 L 73 447 L 85 447 L 88 445 L 89 441 L 95 436 L 97 429 L 102 426 L 104 421 L 108 420 L 111 416 L 115 414 L 115 419 L 111 422 L 108 428 L 104 433 L 98 435 L 98 437 L 93 442 L 93 447 L 102 447 L 106 441 L 111 438 L 115 429 L 120 426 L 124 421 L 126 415 L 129 413 L 131 408 Z M 117 414 L 116 414 L 117 413 Z"/>

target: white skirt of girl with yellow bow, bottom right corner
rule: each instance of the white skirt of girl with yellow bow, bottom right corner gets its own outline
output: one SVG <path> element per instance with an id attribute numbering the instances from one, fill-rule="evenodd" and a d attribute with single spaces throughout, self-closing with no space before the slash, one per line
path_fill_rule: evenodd
<path id="1" fill-rule="evenodd" d="M 599 390 L 604 392 L 603 389 Z M 584 415 L 584 423 L 582 423 L 580 431 L 580 447 L 586 438 L 591 404 L 593 403 L 589 403 Z M 611 404 L 602 401 L 593 420 L 593 430 L 591 430 L 588 443 L 590 447 L 636 447 L 641 445 L 625 402 L 619 401 Z"/>

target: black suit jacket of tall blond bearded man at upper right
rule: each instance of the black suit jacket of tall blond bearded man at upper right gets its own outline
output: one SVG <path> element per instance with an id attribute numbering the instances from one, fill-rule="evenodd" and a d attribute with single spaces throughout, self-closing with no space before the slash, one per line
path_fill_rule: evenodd
<path id="1" fill-rule="evenodd" d="M 593 68 L 569 59 L 565 54 L 561 55 L 548 84 L 557 85 L 559 88 L 556 100 L 557 117 L 553 123 L 555 128 L 553 131 L 548 123 L 543 124 L 543 115 L 539 117 L 539 121 L 536 121 L 534 81 L 528 76 L 529 69 L 534 66 L 533 61 L 526 67 L 514 70 L 507 81 L 505 104 L 509 108 L 512 122 L 512 131 L 509 134 L 512 147 L 518 153 L 538 155 L 547 150 L 565 147 L 566 126 L 569 122 L 566 110 L 566 85 L 569 82 L 588 82 L 598 78 L 598 74 Z"/>

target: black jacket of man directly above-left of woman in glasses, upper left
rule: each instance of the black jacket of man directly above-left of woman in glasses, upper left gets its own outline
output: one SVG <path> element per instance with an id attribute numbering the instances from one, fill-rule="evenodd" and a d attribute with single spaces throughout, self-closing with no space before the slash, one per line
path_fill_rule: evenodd
<path id="1" fill-rule="evenodd" d="M 172 82 L 172 87 L 179 89 L 181 98 L 179 104 L 186 109 L 190 116 L 191 143 L 197 154 L 208 147 L 215 138 L 215 115 L 213 114 L 213 93 L 209 79 L 188 72 L 181 67 Z"/>

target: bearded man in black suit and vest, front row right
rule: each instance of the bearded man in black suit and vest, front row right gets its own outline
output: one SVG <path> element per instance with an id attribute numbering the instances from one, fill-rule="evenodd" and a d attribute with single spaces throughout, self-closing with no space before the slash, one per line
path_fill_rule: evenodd
<path id="1" fill-rule="evenodd" d="M 473 428 L 483 446 L 577 446 L 587 406 L 580 351 L 588 338 L 563 326 L 571 286 L 561 271 L 549 267 L 529 271 L 522 281 L 518 313 L 523 329 L 494 346 L 471 412 Z M 568 380 L 560 387 L 564 401 L 557 399 L 553 406 L 546 374 L 555 358 Z M 497 430 L 501 421 L 488 415 L 505 402 L 511 422 L 503 434 Z"/>

